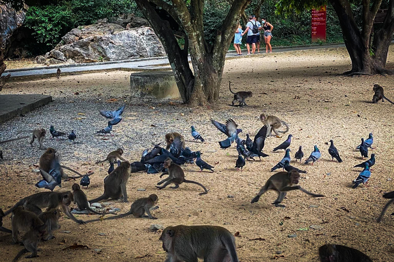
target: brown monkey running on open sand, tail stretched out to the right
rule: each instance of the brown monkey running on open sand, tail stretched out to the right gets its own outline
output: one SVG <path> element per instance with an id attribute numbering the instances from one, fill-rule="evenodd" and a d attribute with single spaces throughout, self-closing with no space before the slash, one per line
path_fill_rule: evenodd
<path id="1" fill-rule="evenodd" d="M 324 195 L 322 194 L 311 193 L 305 190 L 304 188 L 302 188 L 300 185 L 297 185 L 299 183 L 299 180 L 300 180 L 300 173 L 295 170 L 291 170 L 289 172 L 282 171 L 275 173 L 267 180 L 265 185 L 261 188 L 260 192 L 254 197 L 254 199 L 252 199 L 251 203 L 258 202 L 261 195 L 264 194 L 269 189 L 278 192 L 277 200 L 275 200 L 272 203 L 272 205 L 275 205 L 275 207 L 285 207 L 280 203 L 286 197 L 287 191 L 290 190 L 300 189 L 301 191 L 311 195 L 312 197 L 324 197 Z"/>

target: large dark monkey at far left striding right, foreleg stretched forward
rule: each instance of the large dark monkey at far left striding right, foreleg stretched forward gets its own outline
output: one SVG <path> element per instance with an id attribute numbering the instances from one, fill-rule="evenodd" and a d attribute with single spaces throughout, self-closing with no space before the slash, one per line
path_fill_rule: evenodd
<path id="1" fill-rule="evenodd" d="M 29 195 L 28 197 L 19 200 L 12 208 L 7 210 L 4 214 L 8 215 L 12 212 L 13 209 L 19 206 L 23 206 L 25 210 L 32 211 L 35 214 L 39 215 L 41 213 L 42 208 L 47 208 L 47 211 L 57 208 L 58 206 L 62 206 L 63 212 L 70 217 L 74 222 L 78 224 L 84 224 L 83 220 L 77 220 L 70 210 L 68 206 L 74 200 L 71 191 L 66 192 L 40 192 Z"/>

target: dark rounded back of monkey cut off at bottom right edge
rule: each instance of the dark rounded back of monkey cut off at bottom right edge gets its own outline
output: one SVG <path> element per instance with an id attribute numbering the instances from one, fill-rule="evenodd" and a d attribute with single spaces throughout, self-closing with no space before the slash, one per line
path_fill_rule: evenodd
<path id="1" fill-rule="evenodd" d="M 321 246 L 319 258 L 321 262 L 372 262 L 372 259 L 357 249 L 333 244 Z"/>

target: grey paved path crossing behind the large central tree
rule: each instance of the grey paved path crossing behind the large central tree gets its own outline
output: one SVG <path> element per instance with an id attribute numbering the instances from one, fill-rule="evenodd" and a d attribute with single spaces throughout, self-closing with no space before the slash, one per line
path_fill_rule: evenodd
<path id="1" fill-rule="evenodd" d="M 302 51 L 302 50 L 313 50 L 313 49 L 327 49 L 327 48 L 343 48 L 345 45 L 343 43 L 336 43 L 332 45 L 311 45 L 311 46 L 297 46 L 297 47 L 283 47 L 274 48 L 274 53 L 268 55 L 275 55 L 282 52 L 290 51 Z M 265 51 L 265 47 L 261 48 Z M 243 50 L 246 54 L 246 51 Z M 248 55 L 234 56 L 234 51 L 229 51 L 226 55 L 226 59 L 232 58 L 244 58 L 249 57 Z M 265 53 L 254 54 L 253 56 L 264 56 Z M 190 60 L 190 57 L 189 57 Z M 83 64 L 63 64 L 63 65 L 51 65 L 49 67 L 39 67 L 39 68 L 25 68 L 25 69 L 11 69 L 6 70 L 5 74 L 10 73 L 10 80 L 30 80 L 34 78 L 46 78 L 53 77 L 56 75 L 57 68 L 61 68 L 62 75 L 77 75 L 77 74 L 87 74 L 92 72 L 103 72 L 103 71 L 167 71 L 171 70 L 168 58 L 165 57 L 153 57 L 153 58 L 140 58 L 132 60 L 123 61 L 109 61 L 109 62 L 97 62 L 97 63 L 83 63 Z"/>

